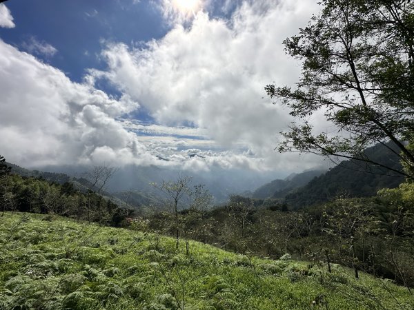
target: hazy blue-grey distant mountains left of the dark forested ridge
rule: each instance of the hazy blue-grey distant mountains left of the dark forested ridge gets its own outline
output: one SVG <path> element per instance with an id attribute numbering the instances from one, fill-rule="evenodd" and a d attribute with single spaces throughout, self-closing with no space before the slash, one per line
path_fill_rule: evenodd
<path id="1" fill-rule="evenodd" d="M 41 177 L 49 182 L 59 184 L 70 182 L 75 185 L 75 188 L 83 192 L 91 187 L 90 182 L 83 175 L 88 167 L 68 166 L 26 169 L 11 163 L 8 165 L 12 167 L 13 173 L 21 176 Z M 150 183 L 161 183 L 163 180 L 174 181 L 179 174 L 193 177 L 191 187 L 198 184 L 206 185 L 206 188 L 215 197 L 215 204 L 217 205 L 226 203 L 230 195 L 240 194 L 246 189 L 254 189 L 258 185 L 271 180 L 269 173 L 251 172 L 251 174 L 247 174 L 245 171 L 238 169 L 213 168 L 208 172 L 185 172 L 180 169 L 130 165 L 118 169 L 110 179 L 104 195 L 119 205 L 127 203 L 136 208 L 142 205 L 159 205 L 166 197 L 159 190 L 152 187 Z"/>

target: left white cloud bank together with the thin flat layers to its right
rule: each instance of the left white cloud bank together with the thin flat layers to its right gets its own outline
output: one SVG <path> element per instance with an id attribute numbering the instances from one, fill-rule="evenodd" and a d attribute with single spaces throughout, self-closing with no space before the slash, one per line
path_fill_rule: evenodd
<path id="1" fill-rule="evenodd" d="M 244 168 L 257 168 L 246 156 L 207 151 L 216 145 L 198 139 L 203 130 L 118 121 L 139 107 L 128 95 L 117 100 L 88 84 L 73 83 L 63 72 L 1 40 L 0 68 L 0 154 L 13 163 L 25 167 L 135 163 L 206 170 L 248 162 Z M 130 130 L 159 136 L 137 136 Z M 200 156 L 190 158 L 194 146 Z"/>

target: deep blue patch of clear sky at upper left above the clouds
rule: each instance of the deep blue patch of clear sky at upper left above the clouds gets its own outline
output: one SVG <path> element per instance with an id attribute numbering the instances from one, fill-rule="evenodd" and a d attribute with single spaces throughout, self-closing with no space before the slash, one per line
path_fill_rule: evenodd
<path id="1" fill-rule="evenodd" d="M 81 81 L 86 68 L 102 68 L 97 54 L 102 41 L 159 39 L 168 31 L 161 12 L 150 1 L 9 0 L 15 28 L 0 28 L 1 38 L 21 46 L 31 37 L 55 47 L 55 56 L 37 54 L 72 79 Z"/>

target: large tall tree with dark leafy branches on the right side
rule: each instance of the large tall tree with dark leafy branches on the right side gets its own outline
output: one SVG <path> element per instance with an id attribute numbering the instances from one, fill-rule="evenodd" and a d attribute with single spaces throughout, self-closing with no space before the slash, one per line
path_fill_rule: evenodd
<path id="1" fill-rule="evenodd" d="M 414 3 L 408 0 L 323 0 L 322 12 L 284 41 L 302 61 L 297 87 L 267 85 L 300 119 L 282 132 L 279 152 L 322 154 L 414 178 Z M 339 134 L 315 133 L 308 116 L 324 112 Z M 392 141 L 393 146 L 386 142 Z M 373 161 L 366 147 L 382 143 L 404 170 Z"/>

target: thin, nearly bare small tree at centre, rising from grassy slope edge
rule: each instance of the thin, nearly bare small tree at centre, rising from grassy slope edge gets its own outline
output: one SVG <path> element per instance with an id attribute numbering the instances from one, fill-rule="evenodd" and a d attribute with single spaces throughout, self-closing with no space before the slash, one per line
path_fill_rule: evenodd
<path id="1" fill-rule="evenodd" d="M 188 196 L 190 194 L 190 189 L 188 185 L 191 182 L 190 176 L 182 176 L 179 174 L 177 176 L 177 180 L 174 181 L 165 181 L 163 180 L 161 184 L 152 183 L 152 186 L 156 189 L 159 189 L 161 192 L 166 194 L 168 199 L 170 200 L 170 209 L 175 217 L 175 237 L 176 237 L 176 247 L 178 249 L 179 246 L 179 227 L 180 227 L 180 220 L 179 220 L 179 203 L 184 198 L 184 196 Z"/>

